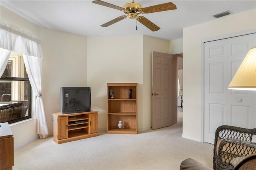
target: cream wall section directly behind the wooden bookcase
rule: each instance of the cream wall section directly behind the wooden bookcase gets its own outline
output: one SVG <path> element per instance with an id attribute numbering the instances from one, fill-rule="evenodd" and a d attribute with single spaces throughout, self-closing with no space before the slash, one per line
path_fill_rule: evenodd
<path id="1" fill-rule="evenodd" d="M 91 87 L 91 109 L 99 111 L 98 128 L 106 130 L 107 83 L 138 83 L 138 99 L 142 98 L 142 36 L 93 36 L 87 40 L 87 85 Z M 141 100 L 138 100 L 138 114 L 141 106 Z M 138 128 L 141 128 L 139 123 Z"/>

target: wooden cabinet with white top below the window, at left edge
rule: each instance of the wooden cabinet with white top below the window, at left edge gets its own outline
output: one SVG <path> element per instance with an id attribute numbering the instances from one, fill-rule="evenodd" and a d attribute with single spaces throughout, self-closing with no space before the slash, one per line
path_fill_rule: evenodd
<path id="1" fill-rule="evenodd" d="M 8 123 L 0 123 L 0 169 L 12 170 L 14 166 L 14 139 Z"/>

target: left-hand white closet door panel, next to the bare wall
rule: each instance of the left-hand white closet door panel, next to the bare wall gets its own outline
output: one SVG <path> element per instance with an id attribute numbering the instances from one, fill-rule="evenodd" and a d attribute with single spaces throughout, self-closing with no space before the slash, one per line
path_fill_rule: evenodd
<path id="1" fill-rule="evenodd" d="M 228 40 L 204 45 L 204 142 L 212 143 L 216 128 L 228 124 Z"/>

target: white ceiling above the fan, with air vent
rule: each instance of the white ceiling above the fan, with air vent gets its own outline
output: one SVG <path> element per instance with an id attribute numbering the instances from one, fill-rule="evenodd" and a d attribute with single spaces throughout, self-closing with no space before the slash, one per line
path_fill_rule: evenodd
<path id="1" fill-rule="evenodd" d="M 132 0 L 104 0 L 123 7 Z M 0 4 L 40 27 L 86 36 L 96 35 L 149 35 L 166 40 L 182 38 L 182 28 L 218 20 L 215 14 L 230 10 L 234 15 L 256 8 L 256 0 L 135 0 L 143 7 L 172 2 L 176 10 L 143 14 L 161 29 L 150 31 L 140 22 L 126 18 L 108 27 L 103 23 L 122 11 L 92 3 L 92 0 L 0 0 Z M 239 24 L 239 21 L 238 21 Z M 16 25 L 18 26 L 18 25 Z"/>

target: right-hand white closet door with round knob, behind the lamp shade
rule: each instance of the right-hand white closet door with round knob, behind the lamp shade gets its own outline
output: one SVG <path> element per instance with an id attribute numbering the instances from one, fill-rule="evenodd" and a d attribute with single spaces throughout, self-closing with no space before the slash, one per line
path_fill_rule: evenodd
<path id="1" fill-rule="evenodd" d="M 229 39 L 228 82 L 236 74 L 247 52 L 256 46 L 256 33 Z M 255 91 L 228 90 L 228 125 L 256 127 Z"/>

